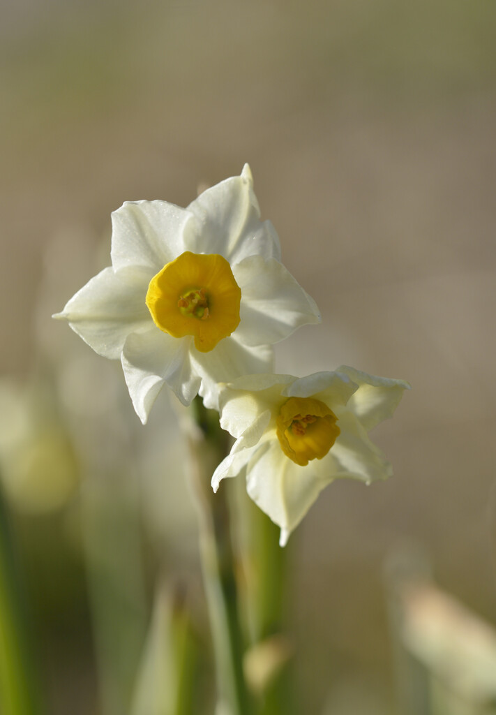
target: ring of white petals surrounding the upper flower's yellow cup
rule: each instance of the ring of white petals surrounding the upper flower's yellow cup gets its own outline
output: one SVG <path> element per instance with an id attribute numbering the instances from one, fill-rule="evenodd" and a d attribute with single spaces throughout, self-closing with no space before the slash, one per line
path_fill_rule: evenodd
<path id="1" fill-rule="evenodd" d="M 207 189 L 187 209 L 165 201 L 126 202 L 111 218 L 112 267 L 54 317 L 67 320 L 100 355 L 121 358 L 143 422 L 164 383 L 184 404 L 199 392 L 207 407 L 217 408 L 218 382 L 272 370 L 269 345 L 319 321 L 312 298 L 279 263 L 279 238 L 270 222 L 260 220 L 247 164 L 241 176 Z M 149 281 L 186 250 L 223 255 L 242 287 L 241 323 L 209 353 L 198 352 L 189 338 L 161 332 L 145 305 Z"/>

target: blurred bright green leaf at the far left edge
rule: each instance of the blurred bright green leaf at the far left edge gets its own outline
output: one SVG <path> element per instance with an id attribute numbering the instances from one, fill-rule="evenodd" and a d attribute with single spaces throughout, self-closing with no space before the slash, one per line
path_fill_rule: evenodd
<path id="1" fill-rule="evenodd" d="M 31 656 L 24 594 L 11 524 L 0 490 L 0 711 L 39 715 L 43 709 Z"/>

